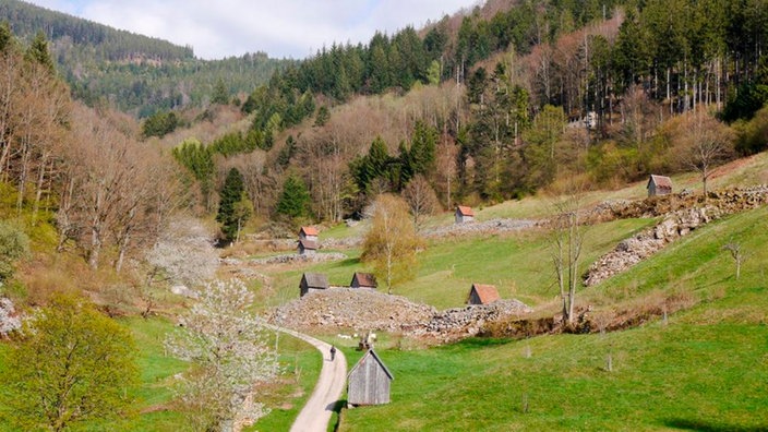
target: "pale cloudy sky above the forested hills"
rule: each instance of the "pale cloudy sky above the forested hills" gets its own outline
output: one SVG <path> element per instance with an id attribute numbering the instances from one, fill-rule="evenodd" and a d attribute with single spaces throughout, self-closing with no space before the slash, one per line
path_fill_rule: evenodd
<path id="1" fill-rule="evenodd" d="M 439 21 L 478 0 L 26 0 L 221 59 L 263 51 L 303 59 L 334 41 L 367 44 Z"/>

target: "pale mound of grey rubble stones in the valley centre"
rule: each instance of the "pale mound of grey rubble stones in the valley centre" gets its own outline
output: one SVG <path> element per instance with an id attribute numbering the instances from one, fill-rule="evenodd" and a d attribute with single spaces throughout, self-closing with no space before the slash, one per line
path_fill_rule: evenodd
<path id="1" fill-rule="evenodd" d="M 277 308 L 269 322 L 295 329 L 385 331 L 436 343 L 477 335 L 483 324 L 530 312 L 517 300 L 437 311 L 404 297 L 379 291 L 332 288 L 310 292 Z"/>

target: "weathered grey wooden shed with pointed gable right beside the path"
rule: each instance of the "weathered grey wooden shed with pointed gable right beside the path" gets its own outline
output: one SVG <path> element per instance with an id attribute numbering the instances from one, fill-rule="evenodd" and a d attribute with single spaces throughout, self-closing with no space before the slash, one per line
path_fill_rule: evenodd
<path id="1" fill-rule="evenodd" d="M 347 404 L 382 405 L 389 403 L 392 375 L 372 349 L 365 351 L 347 376 Z"/>

